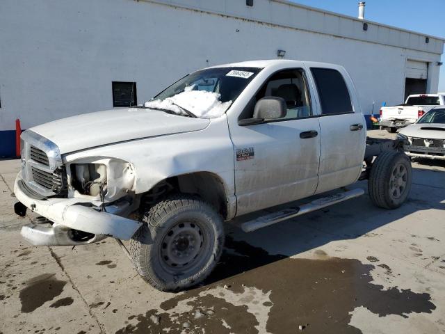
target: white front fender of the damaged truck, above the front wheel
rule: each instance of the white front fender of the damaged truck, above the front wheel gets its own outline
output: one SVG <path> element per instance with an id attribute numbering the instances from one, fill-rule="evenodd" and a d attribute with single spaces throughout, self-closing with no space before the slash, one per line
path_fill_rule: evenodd
<path id="1" fill-rule="evenodd" d="M 228 205 L 236 203 L 234 149 L 226 116 L 212 119 L 209 127 L 200 131 L 105 145 L 67 154 L 65 159 L 70 162 L 88 157 L 129 161 L 134 168 L 133 191 L 136 194 L 149 191 L 169 177 L 211 173 L 223 183 Z"/>

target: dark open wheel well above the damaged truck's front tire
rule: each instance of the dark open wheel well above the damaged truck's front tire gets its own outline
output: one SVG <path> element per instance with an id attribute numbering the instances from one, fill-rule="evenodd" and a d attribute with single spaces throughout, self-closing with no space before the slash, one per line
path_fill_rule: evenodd
<path id="1" fill-rule="evenodd" d="M 169 177 L 147 191 L 143 196 L 142 203 L 154 205 L 161 198 L 173 192 L 200 196 L 213 205 L 223 218 L 227 217 L 225 186 L 220 177 L 213 173 L 197 172 Z"/>

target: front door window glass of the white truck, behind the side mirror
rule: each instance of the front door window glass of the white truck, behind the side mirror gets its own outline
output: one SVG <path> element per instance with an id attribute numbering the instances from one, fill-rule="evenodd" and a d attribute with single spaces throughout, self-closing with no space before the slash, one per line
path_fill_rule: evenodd
<path id="1" fill-rule="evenodd" d="M 287 113 L 281 120 L 312 116 L 309 90 L 305 74 L 301 69 L 284 70 L 273 74 L 250 100 L 241 118 L 252 117 L 255 104 L 263 97 L 269 96 L 282 97 L 286 101 Z"/>

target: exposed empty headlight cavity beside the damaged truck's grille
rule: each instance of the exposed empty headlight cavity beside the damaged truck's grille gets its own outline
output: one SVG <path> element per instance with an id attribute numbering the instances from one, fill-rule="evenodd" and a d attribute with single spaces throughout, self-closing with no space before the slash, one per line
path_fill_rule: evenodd
<path id="1" fill-rule="evenodd" d="M 72 164 L 72 186 L 83 195 L 99 196 L 106 191 L 104 164 Z"/>

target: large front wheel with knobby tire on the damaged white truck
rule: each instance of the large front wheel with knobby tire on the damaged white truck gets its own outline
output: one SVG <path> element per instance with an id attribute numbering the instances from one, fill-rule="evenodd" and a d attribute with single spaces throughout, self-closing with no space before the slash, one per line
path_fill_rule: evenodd
<path id="1" fill-rule="evenodd" d="M 216 267 L 224 246 L 223 220 L 211 205 L 199 197 L 184 194 L 170 196 L 142 212 L 141 221 L 143 225 L 130 240 L 131 260 L 139 275 L 156 289 L 169 292 L 186 289 L 202 282 Z M 193 258 L 190 264 L 184 264 L 184 267 L 180 264 L 177 267 L 178 264 L 172 263 L 172 258 L 177 256 L 179 248 L 175 247 L 178 240 L 185 240 L 188 245 L 186 250 L 179 250 L 184 254 L 188 252 L 188 248 L 195 249 L 191 246 L 192 241 L 189 244 L 186 240 L 190 234 L 181 232 L 181 225 L 182 228 L 191 230 L 196 239 L 202 238 L 197 241 L 203 246 L 199 250 L 199 256 Z M 195 229 L 199 231 L 196 232 Z M 171 231 L 175 231 L 175 234 Z M 172 236 L 180 236 L 181 233 L 184 235 L 175 241 L 166 239 L 170 233 Z M 199 243 L 194 241 L 195 239 L 193 246 Z M 165 246 L 167 244 L 168 247 Z M 167 256 L 163 252 L 170 249 L 175 253 L 168 253 L 173 256 L 168 261 L 164 260 Z M 191 255 L 187 253 L 187 256 Z M 179 257 L 178 259 L 181 260 Z M 186 266 L 193 263 L 195 267 L 187 269 Z"/>

